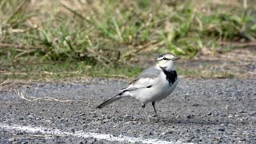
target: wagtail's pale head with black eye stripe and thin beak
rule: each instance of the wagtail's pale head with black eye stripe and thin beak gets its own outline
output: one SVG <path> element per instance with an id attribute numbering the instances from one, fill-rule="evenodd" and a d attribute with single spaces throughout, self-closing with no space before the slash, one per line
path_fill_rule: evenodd
<path id="1" fill-rule="evenodd" d="M 162 54 L 157 58 L 156 62 L 159 67 L 166 70 L 174 70 L 174 61 L 178 59 L 173 54 Z"/>

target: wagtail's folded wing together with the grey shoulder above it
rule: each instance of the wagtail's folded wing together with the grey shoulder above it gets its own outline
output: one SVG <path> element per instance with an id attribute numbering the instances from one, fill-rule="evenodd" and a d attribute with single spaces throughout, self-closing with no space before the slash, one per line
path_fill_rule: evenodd
<path id="1" fill-rule="evenodd" d="M 161 70 L 158 70 L 155 66 L 151 66 L 149 69 L 144 70 L 138 79 L 134 80 L 134 82 L 130 82 L 125 88 L 120 90 L 123 91 L 130 91 L 130 90 L 138 90 L 141 88 L 149 88 L 154 83 L 158 82 L 158 77 L 160 75 Z"/>

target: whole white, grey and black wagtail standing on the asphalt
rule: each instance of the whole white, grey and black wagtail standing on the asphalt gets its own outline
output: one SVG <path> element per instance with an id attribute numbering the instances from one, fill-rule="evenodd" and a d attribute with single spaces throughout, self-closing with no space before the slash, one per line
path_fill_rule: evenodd
<path id="1" fill-rule="evenodd" d="M 160 55 L 155 66 L 144 70 L 134 82 L 130 82 L 128 86 L 120 90 L 120 94 L 103 102 L 96 108 L 100 109 L 126 96 L 138 99 L 142 103 L 143 110 L 145 110 L 145 105 L 148 102 L 152 102 L 154 107 L 155 102 L 169 96 L 178 84 L 178 75 L 174 69 L 174 61 L 177 59 L 172 54 Z M 155 107 L 154 113 L 157 115 Z"/>

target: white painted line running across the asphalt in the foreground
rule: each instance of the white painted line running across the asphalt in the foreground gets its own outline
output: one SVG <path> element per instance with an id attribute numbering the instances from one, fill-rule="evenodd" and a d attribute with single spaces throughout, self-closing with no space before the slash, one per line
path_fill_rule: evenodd
<path id="1" fill-rule="evenodd" d="M 38 126 L 19 126 L 19 125 L 8 125 L 5 123 L 0 123 L 0 129 L 4 130 L 22 130 L 26 131 L 26 133 L 40 133 L 40 134 L 50 134 L 50 135 L 58 135 L 58 136 L 70 136 L 70 137 L 82 137 L 82 138 L 96 138 L 98 140 L 106 140 L 106 141 L 114 141 L 114 142 L 141 142 L 141 143 L 163 143 L 163 144 L 180 144 L 182 141 L 178 142 L 167 142 L 158 139 L 146 139 L 146 138 L 134 138 L 120 135 L 118 137 L 113 136 L 112 134 L 98 134 L 98 133 L 87 133 L 84 131 L 75 131 L 68 132 L 58 129 L 50 129 L 46 127 L 38 127 Z"/>

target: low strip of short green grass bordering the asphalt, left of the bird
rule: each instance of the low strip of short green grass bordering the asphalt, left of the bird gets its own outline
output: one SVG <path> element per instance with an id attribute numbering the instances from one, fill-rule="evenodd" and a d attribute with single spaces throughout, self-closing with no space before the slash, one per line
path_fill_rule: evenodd
<path id="1" fill-rule="evenodd" d="M 1 71 L 2 80 L 45 80 L 58 81 L 70 78 L 133 78 L 142 68 L 138 66 L 108 67 L 102 65 L 90 66 L 88 62 L 44 62 L 30 65 L 5 65 L 8 71 Z"/>

